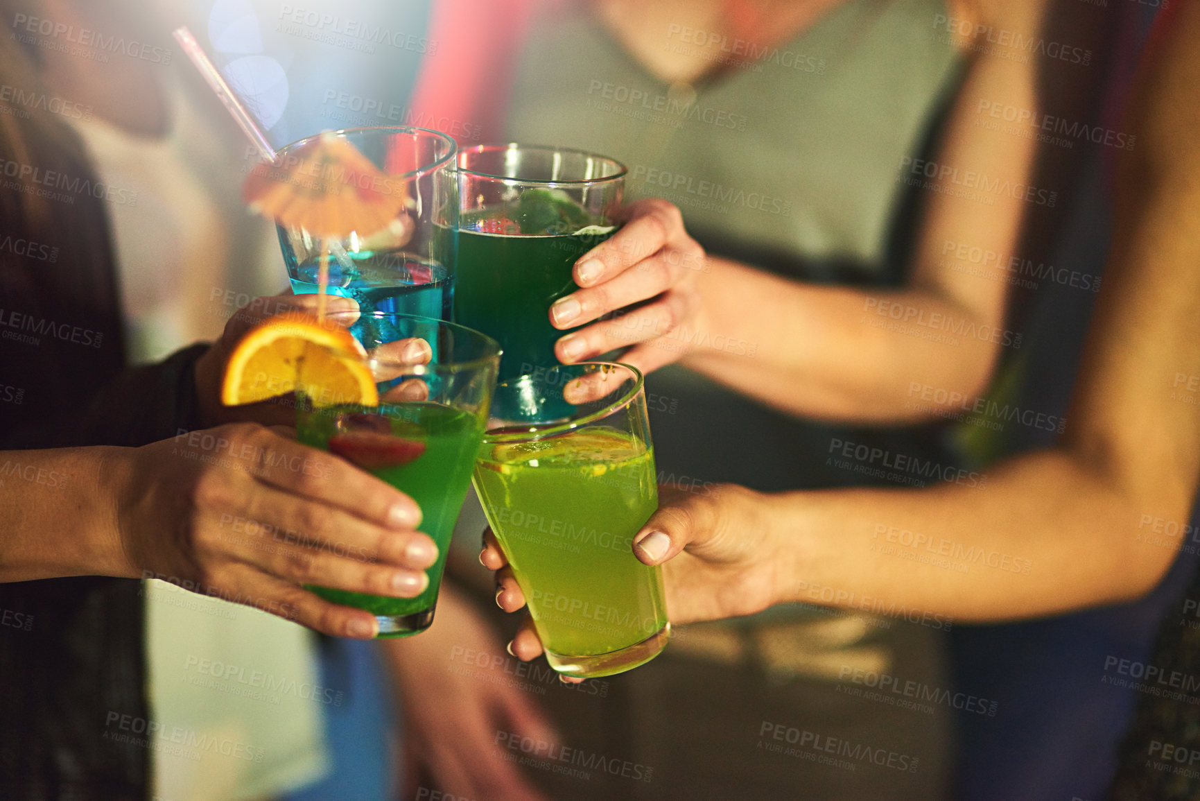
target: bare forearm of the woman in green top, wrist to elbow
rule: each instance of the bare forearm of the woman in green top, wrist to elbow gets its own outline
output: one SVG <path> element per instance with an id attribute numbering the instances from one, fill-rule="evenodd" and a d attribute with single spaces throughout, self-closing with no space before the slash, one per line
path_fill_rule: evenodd
<path id="1" fill-rule="evenodd" d="M 806 285 L 709 261 L 703 330 L 684 364 L 793 414 L 929 419 L 938 401 L 973 402 L 1004 341 L 1002 330 L 923 288 Z"/>

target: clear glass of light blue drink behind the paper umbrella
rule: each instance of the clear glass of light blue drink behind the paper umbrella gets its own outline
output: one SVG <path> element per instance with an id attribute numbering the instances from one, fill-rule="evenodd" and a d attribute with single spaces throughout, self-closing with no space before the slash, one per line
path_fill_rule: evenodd
<path id="1" fill-rule="evenodd" d="M 401 195 L 404 205 L 383 226 L 371 220 L 361 229 L 336 238 L 276 226 L 293 292 L 317 292 L 320 259 L 328 247 L 330 294 L 354 298 L 364 311 L 450 319 L 458 219 L 454 139 L 418 127 L 346 128 L 293 142 L 280 150 L 277 163 L 284 172 L 296 168 L 301 147 L 320 137 L 344 139 L 378 173 L 368 175 L 332 162 L 316 167 L 306 163 L 298 181 L 349 183 L 377 191 L 382 185 L 386 195 Z M 350 208 L 349 203 L 344 205 Z M 353 211 L 346 214 L 353 226 Z"/>

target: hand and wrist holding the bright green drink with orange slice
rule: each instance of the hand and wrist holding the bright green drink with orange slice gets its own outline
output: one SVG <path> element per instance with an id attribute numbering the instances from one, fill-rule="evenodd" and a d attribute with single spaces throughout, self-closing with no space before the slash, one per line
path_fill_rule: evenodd
<path id="1" fill-rule="evenodd" d="M 335 636 L 371 638 L 374 615 L 300 585 L 412 598 L 433 540 L 416 503 L 337 456 L 252 424 L 114 449 L 119 574 L 168 579 Z"/>

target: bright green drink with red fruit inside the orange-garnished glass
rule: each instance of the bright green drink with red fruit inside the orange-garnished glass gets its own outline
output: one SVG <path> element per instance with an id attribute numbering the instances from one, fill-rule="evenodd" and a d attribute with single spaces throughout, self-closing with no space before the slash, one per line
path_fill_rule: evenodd
<path id="1" fill-rule="evenodd" d="M 421 531 L 438 545 L 438 561 L 426 570 L 430 585 L 415 598 L 312 587 L 334 603 L 388 618 L 432 618 L 442 572 L 458 509 L 470 483 L 472 462 L 484 428 L 468 412 L 440 404 L 332 406 L 302 416 L 300 442 L 330 450 L 407 494 L 421 507 Z M 419 630 L 419 629 L 416 629 Z M 403 636 L 415 630 L 383 632 Z"/>

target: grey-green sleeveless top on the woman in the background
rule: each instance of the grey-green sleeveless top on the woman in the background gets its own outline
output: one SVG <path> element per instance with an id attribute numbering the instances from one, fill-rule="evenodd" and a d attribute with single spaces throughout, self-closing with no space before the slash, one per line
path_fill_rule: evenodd
<path id="1" fill-rule="evenodd" d="M 778 271 L 797 277 L 804 262 L 836 259 L 870 279 L 900 161 L 955 84 L 956 53 L 935 25 L 944 13 L 942 0 L 851 0 L 752 62 L 736 62 L 746 46 L 725 40 L 714 66 L 726 68 L 670 85 L 575 7 L 534 23 L 506 133 L 624 162 L 629 198 L 676 203 L 725 256 L 791 257 L 796 269 Z M 662 46 L 698 50 L 712 36 L 672 26 Z"/>

